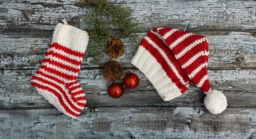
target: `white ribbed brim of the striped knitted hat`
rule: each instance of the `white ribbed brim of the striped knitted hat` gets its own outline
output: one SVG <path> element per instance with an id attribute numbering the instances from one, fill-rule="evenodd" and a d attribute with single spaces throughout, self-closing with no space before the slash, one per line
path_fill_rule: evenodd
<path id="1" fill-rule="evenodd" d="M 163 67 L 144 47 L 138 48 L 131 63 L 149 79 L 164 101 L 170 101 L 182 95 L 180 89 L 167 76 Z"/>

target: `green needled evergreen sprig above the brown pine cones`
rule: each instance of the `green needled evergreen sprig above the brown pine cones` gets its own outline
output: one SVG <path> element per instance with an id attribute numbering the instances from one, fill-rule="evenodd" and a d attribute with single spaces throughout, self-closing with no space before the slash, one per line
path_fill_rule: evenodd
<path id="1" fill-rule="evenodd" d="M 107 0 L 96 1 L 96 7 L 89 11 L 86 18 L 89 35 L 89 55 L 98 63 L 105 54 L 105 45 L 113 37 L 128 38 L 130 45 L 138 46 L 141 23 L 133 17 L 133 10 L 120 4 L 114 5 Z M 136 47 L 137 48 L 137 47 Z"/>

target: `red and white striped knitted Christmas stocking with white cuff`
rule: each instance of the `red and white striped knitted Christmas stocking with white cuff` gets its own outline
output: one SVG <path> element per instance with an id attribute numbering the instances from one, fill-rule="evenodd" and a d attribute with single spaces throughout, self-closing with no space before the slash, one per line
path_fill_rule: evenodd
<path id="1" fill-rule="evenodd" d="M 57 24 L 40 70 L 31 85 L 59 111 L 76 118 L 86 106 L 86 97 L 77 76 L 89 36 L 74 26 Z"/>

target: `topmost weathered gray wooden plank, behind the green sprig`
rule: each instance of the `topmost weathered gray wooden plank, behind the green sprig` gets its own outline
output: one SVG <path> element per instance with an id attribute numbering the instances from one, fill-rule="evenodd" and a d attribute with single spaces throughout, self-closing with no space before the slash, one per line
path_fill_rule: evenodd
<path id="1" fill-rule="evenodd" d="M 144 28 L 172 25 L 193 30 L 255 31 L 254 1 L 165 1 L 112 0 L 129 6 L 134 15 L 145 23 Z M 63 17 L 85 27 L 82 20 L 93 6 L 84 1 L 1 0 L 1 30 L 17 31 L 52 29 Z"/>

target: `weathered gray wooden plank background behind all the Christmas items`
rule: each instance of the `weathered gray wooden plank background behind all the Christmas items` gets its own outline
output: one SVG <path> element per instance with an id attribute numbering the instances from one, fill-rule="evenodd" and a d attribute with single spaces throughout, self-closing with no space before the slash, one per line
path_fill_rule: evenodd
<path id="1" fill-rule="evenodd" d="M 92 3 L 66 0 L 0 0 L 0 138 L 256 138 L 256 1 L 112 0 L 133 8 L 144 22 L 209 36 L 209 76 L 223 90 L 228 108 L 212 115 L 201 91 L 164 102 L 145 76 L 130 64 L 133 46 L 119 61 L 140 75 L 135 90 L 120 99 L 107 95 L 101 65 L 84 58 L 80 83 L 89 108 L 72 120 L 29 85 L 64 17 L 86 28 Z M 105 56 L 102 63 L 107 61 Z"/>

